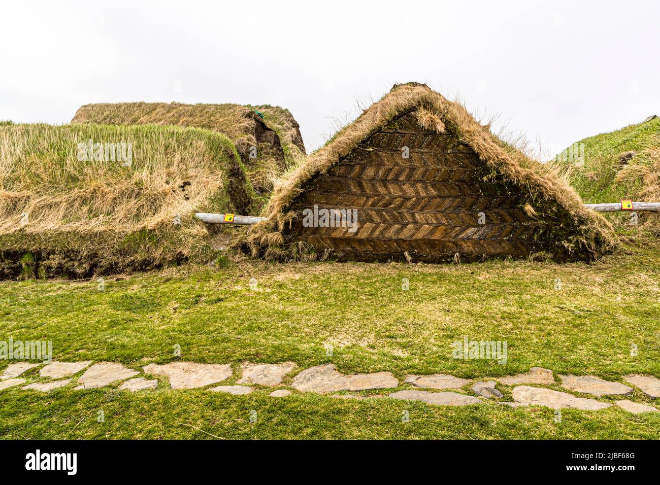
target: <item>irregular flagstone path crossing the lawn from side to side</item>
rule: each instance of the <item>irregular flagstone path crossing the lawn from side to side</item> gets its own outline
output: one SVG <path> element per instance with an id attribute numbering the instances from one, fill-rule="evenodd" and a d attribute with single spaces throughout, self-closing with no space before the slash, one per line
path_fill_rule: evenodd
<path id="1" fill-rule="evenodd" d="M 74 390 L 94 389 L 119 383 L 119 391 L 147 391 L 159 386 L 158 379 L 149 378 L 149 375 L 160 375 L 168 381 L 171 389 L 197 389 L 206 388 L 207 391 L 228 393 L 231 395 L 246 395 L 259 391 L 259 387 L 278 387 L 284 379 L 294 373 L 294 362 L 280 364 L 255 364 L 244 362 L 241 365 L 241 375 L 236 383 L 220 384 L 232 377 L 230 364 L 198 364 L 196 362 L 170 362 L 169 364 L 149 364 L 143 367 L 145 375 L 129 369 L 115 362 L 51 362 L 39 370 L 36 380 L 36 371 L 27 374 L 27 377 L 18 377 L 30 369 L 43 364 L 30 362 L 15 362 L 9 365 L 0 375 L 0 391 L 11 387 L 21 386 L 26 391 L 47 393 L 54 389 L 75 385 Z M 76 377 L 77 374 L 81 374 Z M 660 379 L 649 375 L 626 375 L 624 381 L 630 385 L 619 382 L 605 381 L 589 375 L 558 375 L 561 387 L 576 393 L 591 394 L 594 397 L 603 396 L 630 396 L 635 386 L 647 397 L 657 399 L 660 397 Z M 498 389 L 499 385 L 512 387 L 513 402 L 500 401 L 504 394 Z M 219 385 L 218 385 L 219 384 Z M 533 384 L 533 385 L 528 385 Z M 163 383 L 163 386 L 166 384 Z M 215 387 L 211 387 L 215 385 Z M 387 398 L 404 401 L 421 401 L 438 406 L 467 406 L 469 404 L 483 404 L 482 399 L 496 401 L 514 408 L 522 406 L 546 406 L 549 408 L 576 408 L 581 410 L 601 410 L 616 405 L 618 408 L 640 414 L 644 412 L 660 412 L 655 406 L 635 403 L 627 399 L 604 402 L 598 399 L 585 398 L 568 392 L 556 391 L 543 385 L 559 386 L 555 381 L 554 373 L 548 369 L 533 367 L 529 372 L 506 377 L 498 377 L 488 381 L 480 379 L 463 379 L 449 374 L 407 375 L 403 387 L 414 389 L 399 389 L 378 395 L 333 394 L 331 397 L 341 399 L 373 399 Z M 323 364 L 297 372 L 291 379 L 290 385 L 284 385 L 300 392 L 318 394 L 338 393 L 341 391 L 365 391 L 368 389 L 397 389 L 399 380 L 391 372 L 376 372 L 367 374 L 343 374 L 337 371 L 333 364 Z M 421 390 L 421 389 L 431 389 Z M 442 391 L 453 389 L 453 391 Z M 436 392 L 436 391 L 442 392 Z M 504 389 L 502 389 L 504 390 Z M 457 391 L 457 392 L 455 392 Z M 472 394 L 470 394 L 472 393 Z M 291 389 L 275 389 L 270 391 L 271 397 L 287 397 L 292 395 Z M 480 399 L 481 398 L 481 399 Z"/>

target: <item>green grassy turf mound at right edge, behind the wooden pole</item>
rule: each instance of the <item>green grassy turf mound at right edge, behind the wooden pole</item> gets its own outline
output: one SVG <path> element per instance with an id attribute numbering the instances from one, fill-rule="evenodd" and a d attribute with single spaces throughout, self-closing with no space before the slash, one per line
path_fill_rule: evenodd
<path id="1" fill-rule="evenodd" d="M 660 202 L 660 118 L 585 138 L 572 148 L 572 157 L 565 150 L 556 158 L 568 169 L 570 183 L 585 204 L 625 198 Z M 642 212 L 639 216 L 640 223 L 650 230 L 655 226 L 655 234 L 659 234 L 657 214 Z M 629 214 L 609 218 L 618 226 L 629 223 Z"/>

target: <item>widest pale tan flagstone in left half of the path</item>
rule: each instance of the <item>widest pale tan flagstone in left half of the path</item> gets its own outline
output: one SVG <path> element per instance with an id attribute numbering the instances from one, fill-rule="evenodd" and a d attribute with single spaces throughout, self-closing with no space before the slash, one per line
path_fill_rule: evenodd
<path id="1" fill-rule="evenodd" d="M 197 364 L 195 362 L 170 362 L 159 366 L 149 364 L 143 367 L 145 373 L 166 375 L 172 389 L 195 389 L 224 381 L 232 375 L 229 364 Z"/>

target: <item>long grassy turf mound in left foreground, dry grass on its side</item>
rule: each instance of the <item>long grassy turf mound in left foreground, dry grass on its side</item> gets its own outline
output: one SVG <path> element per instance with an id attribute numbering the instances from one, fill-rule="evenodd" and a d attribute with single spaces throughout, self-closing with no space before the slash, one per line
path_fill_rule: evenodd
<path id="1" fill-rule="evenodd" d="M 91 146 L 90 146 L 91 144 Z M 0 278 L 209 259 L 196 211 L 249 212 L 228 137 L 170 126 L 0 127 Z"/>

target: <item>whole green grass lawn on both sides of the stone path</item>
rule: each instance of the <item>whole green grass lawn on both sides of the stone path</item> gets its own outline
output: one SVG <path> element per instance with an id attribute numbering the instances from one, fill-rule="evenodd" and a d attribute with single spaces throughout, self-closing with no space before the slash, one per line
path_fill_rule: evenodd
<path id="1" fill-rule="evenodd" d="M 256 289 L 249 288 L 251 278 Z M 409 290 L 402 289 L 403 278 Z M 407 373 L 497 377 L 532 366 L 615 380 L 628 373 L 660 376 L 659 282 L 655 247 L 630 248 L 593 265 L 242 262 L 109 278 L 104 291 L 96 282 L 0 282 L 0 340 L 52 340 L 55 360 L 108 360 L 137 370 L 172 360 L 230 363 L 228 383 L 246 360 L 391 371 L 402 382 Z M 453 359 L 451 343 L 464 336 L 506 340 L 508 362 Z M 0 372 L 6 366 L 0 361 Z M 22 377 L 36 379 L 38 370 Z M 510 397 L 510 388 L 503 390 Z M 48 395 L 13 388 L 0 392 L 0 437 L 660 437 L 658 415 L 618 408 L 562 410 L 555 422 L 548 408 L 267 392 L 168 391 L 164 383 L 135 394 L 112 387 Z M 630 399 L 651 402 L 639 391 Z M 97 422 L 99 410 L 105 422 Z M 410 422 L 402 422 L 404 410 Z"/>

